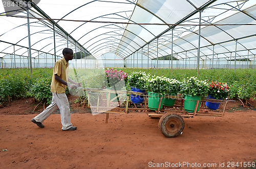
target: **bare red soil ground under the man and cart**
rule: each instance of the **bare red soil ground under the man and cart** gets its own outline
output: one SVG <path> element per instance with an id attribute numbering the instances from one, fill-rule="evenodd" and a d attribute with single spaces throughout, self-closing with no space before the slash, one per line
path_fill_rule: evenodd
<path id="1" fill-rule="evenodd" d="M 246 168 L 244 162 L 256 162 L 253 106 L 228 103 L 223 118 L 184 118 L 183 133 L 167 138 L 158 129 L 159 118 L 145 112 L 110 114 L 106 124 L 105 114 L 93 116 L 74 99 L 69 96 L 75 131 L 61 130 L 60 114 L 38 128 L 31 119 L 42 106 L 33 112 L 32 98 L 0 105 L 0 168 Z"/>

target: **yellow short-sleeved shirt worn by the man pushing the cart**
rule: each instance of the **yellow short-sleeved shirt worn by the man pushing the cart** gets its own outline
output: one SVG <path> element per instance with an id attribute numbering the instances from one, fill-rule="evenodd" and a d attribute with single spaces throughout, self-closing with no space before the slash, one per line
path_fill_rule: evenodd
<path id="1" fill-rule="evenodd" d="M 55 75 L 57 74 L 62 80 L 68 82 L 68 66 L 69 66 L 69 63 L 66 61 L 64 57 L 57 60 L 56 63 L 54 64 L 51 92 L 65 93 L 67 86 L 55 80 Z"/>

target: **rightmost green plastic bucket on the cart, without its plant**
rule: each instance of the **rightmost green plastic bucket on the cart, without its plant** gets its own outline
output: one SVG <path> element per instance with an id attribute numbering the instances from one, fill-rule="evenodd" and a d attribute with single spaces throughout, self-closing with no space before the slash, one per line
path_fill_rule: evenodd
<path id="1" fill-rule="evenodd" d="M 184 100 L 184 109 L 187 112 L 190 112 L 190 113 L 194 112 L 196 104 L 197 104 L 197 100 L 199 100 L 197 111 L 199 110 L 202 96 L 198 96 L 198 95 L 193 95 L 192 96 L 192 95 L 185 94 L 184 99 L 185 99 Z"/>

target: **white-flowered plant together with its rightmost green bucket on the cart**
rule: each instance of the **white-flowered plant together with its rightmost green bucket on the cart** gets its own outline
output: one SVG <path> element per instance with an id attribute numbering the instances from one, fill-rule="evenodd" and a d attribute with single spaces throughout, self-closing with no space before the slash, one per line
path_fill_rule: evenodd
<path id="1" fill-rule="evenodd" d="M 201 81 L 197 77 L 187 77 L 183 80 L 181 86 L 181 93 L 184 95 L 184 109 L 187 112 L 194 112 L 197 100 L 199 100 L 198 111 L 202 98 L 208 92 L 207 81 Z"/>

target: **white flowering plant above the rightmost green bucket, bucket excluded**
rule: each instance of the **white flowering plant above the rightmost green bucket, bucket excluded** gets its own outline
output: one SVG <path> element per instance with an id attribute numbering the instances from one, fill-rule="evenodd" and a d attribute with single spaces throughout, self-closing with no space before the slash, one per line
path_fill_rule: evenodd
<path id="1" fill-rule="evenodd" d="M 181 85 L 181 93 L 189 95 L 206 96 L 209 85 L 206 80 L 201 81 L 197 77 L 187 77 Z"/>

